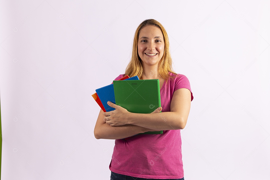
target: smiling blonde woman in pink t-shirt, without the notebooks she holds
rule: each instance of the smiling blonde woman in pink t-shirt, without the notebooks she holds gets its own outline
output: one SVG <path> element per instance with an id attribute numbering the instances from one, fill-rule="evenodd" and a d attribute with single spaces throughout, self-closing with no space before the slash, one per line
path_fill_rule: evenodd
<path id="1" fill-rule="evenodd" d="M 126 72 L 115 80 L 124 75 L 159 79 L 161 107 L 151 114 L 130 113 L 108 101 L 115 110 L 100 110 L 95 137 L 115 139 L 111 180 L 184 179 L 180 129 L 187 123 L 193 95 L 187 77 L 174 73 L 171 64 L 166 30 L 154 19 L 143 21 Z M 160 130 L 163 134 L 135 135 Z"/>

